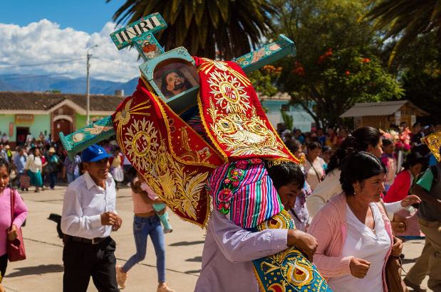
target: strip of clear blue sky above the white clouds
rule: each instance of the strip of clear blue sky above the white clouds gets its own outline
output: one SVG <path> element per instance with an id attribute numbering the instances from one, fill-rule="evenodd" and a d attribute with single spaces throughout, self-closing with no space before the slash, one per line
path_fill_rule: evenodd
<path id="1" fill-rule="evenodd" d="M 0 22 L 27 26 L 46 18 L 61 29 L 70 27 L 91 34 L 112 21 L 124 3 L 125 0 L 0 0 Z"/>

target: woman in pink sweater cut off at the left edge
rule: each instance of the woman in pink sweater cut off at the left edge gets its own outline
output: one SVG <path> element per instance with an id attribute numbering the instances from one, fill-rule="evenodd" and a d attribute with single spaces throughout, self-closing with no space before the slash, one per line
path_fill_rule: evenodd
<path id="1" fill-rule="evenodd" d="M 6 273 L 8 266 L 8 254 L 6 254 L 6 241 L 17 238 L 17 231 L 23 224 L 28 215 L 28 208 L 24 205 L 19 193 L 16 190 L 8 188 L 9 173 L 11 173 L 11 165 L 0 158 L 0 292 L 1 280 Z M 11 194 L 16 195 L 14 206 L 14 220 L 11 228 Z"/>

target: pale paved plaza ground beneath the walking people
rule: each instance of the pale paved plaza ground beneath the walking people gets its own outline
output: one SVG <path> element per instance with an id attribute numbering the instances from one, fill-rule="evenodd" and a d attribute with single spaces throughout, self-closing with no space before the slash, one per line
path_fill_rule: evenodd
<path id="1" fill-rule="evenodd" d="M 61 292 L 63 243 L 58 238 L 56 223 L 47 218 L 51 213 L 61 215 L 66 187 L 57 186 L 56 190 L 41 193 L 33 193 L 31 188 L 29 190 L 21 193 L 29 210 L 26 227 L 23 228 L 27 259 L 9 263 L 3 285 L 7 292 Z M 123 226 L 118 232 L 113 232 L 112 237 L 117 244 L 117 264 L 124 264 L 135 253 L 130 188 L 118 190 L 116 210 L 123 218 Z M 196 225 L 180 220 L 170 210 L 169 214 L 173 232 L 165 234 L 167 283 L 177 292 L 191 292 L 201 269 L 205 232 Z M 424 240 L 405 242 L 403 263 L 406 271 L 415 263 L 423 246 Z M 156 256 L 149 239 L 146 259 L 130 270 L 128 284 L 122 291 L 155 292 L 156 286 Z M 427 286 L 427 277 L 422 286 Z M 92 281 L 89 291 L 97 291 Z"/>

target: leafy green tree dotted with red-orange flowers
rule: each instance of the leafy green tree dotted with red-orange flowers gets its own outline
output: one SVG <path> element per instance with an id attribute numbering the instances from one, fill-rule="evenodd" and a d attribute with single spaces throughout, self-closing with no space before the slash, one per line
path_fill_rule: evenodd
<path id="1" fill-rule="evenodd" d="M 279 3 L 279 32 L 299 53 L 276 63 L 279 90 L 291 94 L 317 125 L 343 124 L 339 117 L 356 102 L 399 98 L 403 90 L 376 57 L 378 42 L 370 23 L 358 18 L 365 1 L 289 0 Z"/>

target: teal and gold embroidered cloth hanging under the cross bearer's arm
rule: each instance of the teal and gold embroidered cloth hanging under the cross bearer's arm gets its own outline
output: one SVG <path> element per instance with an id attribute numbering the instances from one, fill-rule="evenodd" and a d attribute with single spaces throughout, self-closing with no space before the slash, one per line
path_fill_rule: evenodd
<path id="1" fill-rule="evenodd" d="M 295 228 L 286 210 L 261 223 L 252 231 L 265 229 Z M 330 292 L 328 283 L 311 261 L 296 249 L 290 247 L 283 252 L 253 261 L 254 274 L 261 291 L 271 292 Z"/>

